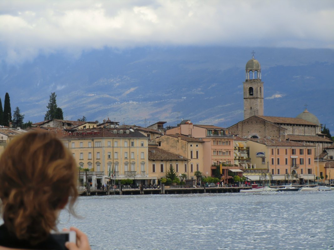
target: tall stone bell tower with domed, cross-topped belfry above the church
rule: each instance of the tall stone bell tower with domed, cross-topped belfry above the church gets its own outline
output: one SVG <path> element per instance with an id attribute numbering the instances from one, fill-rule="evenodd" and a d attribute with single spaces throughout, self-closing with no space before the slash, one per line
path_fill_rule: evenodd
<path id="1" fill-rule="evenodd" d="M 243 119 L 253 115 L 263 115 L 263 82 L 261 65 L 254 59 L 246 63 L 246 80 L 243 82 Z"/>

